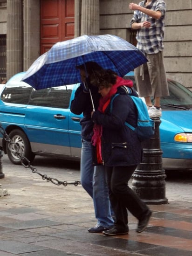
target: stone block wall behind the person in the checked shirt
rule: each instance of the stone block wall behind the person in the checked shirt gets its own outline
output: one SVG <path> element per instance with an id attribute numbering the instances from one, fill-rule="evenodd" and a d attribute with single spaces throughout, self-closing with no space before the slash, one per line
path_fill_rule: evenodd
<path id="1" fill-rule="evenodd" d="M 100 0 L 100 32 L 130 41 L 129 3 L 139 0 Z M 165 68 L 168 78 L 192 88 L 192 0 L 167 0 Z"/>

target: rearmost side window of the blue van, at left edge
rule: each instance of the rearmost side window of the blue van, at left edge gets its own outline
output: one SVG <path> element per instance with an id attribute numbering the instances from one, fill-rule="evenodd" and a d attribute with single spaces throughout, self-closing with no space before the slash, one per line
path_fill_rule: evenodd
<path id="1" fill-rule="evenodd" d="M 28 104 L 32 90 L 33 88 L 24 82 L 7 83 L 1 93 L 0 99 L 7 103 Z"/>

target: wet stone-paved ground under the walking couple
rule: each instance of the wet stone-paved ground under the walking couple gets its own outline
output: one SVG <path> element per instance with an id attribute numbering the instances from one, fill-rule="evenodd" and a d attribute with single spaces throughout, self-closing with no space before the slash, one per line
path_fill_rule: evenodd
<path id="1" fill-rule="evenodd" d="M 96 224 L 93 203 L 81 186 L 56 186 L 3 156 L 0 256 L 192 256 L 192 175 L 166 182 L 167 204 L 149 205 L 148 228 L 137 234 L 129 213 L 128 235 L 87 231 Z M 58 180 L 80 179 L 79 163 L 37 158 L 33 166 Z"/>

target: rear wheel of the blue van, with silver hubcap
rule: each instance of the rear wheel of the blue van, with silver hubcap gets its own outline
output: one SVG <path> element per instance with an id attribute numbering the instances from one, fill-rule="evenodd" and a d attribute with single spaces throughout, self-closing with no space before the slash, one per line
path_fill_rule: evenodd
<path id="1" fill-rule="evenodd" d="M 34 153 L 26 134 L 21 130 L 13 130 L 9 133 L 10 143 L 7 142 L 6 149 L 10 161 L 15 165 L 21 165 L 21 157 L 26 157 L 30 162 L 34 160 Z M 28 164 L 25 163 L 24 164 Z"/>

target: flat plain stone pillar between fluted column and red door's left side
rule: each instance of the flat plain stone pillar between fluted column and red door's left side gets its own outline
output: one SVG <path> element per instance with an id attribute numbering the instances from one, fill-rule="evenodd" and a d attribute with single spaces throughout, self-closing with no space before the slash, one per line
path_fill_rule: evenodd
<path id="1" fill-rule="evenodd" d="M 40 55 L 40 1 L 23 1 L 23 69 Z"/>

